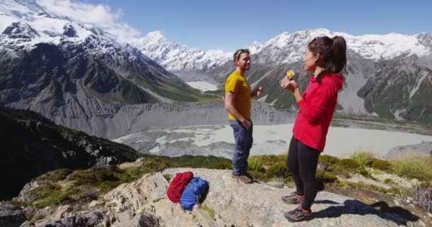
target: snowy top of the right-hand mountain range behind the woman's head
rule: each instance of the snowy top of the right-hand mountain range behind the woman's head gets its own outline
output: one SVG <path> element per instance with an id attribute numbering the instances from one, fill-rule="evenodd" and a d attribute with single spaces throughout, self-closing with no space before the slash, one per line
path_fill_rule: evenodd
<path id="1" fill-rule="evenodd" d="M 392 60 L 401 55 L 426 56 L 432 53 L 430 36 L 401 35 L 390 33 L 387 35 L 350 35 L 347 33 L 331 32 L 328 29 L 319 28 L 295 33 L 282 33 L 264 43 L 257 53 L 259 63 L 279 64 L 293 63 L 302 60 L 304 49 L 308 42 L 318 36 L 327 35 L 333 37 L 340 35 L 347 41 L 347 48 L 374 61 Z"/>

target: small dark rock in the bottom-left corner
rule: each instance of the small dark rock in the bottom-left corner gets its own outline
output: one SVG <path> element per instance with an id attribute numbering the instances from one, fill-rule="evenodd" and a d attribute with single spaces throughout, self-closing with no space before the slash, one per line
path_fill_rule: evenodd
<path id="1" fill-rule="evenodd" d="M 0 204 L 0 226 L 18 227 L 25 221 L 28 219 L 21 208 L 10 204 Z"/>

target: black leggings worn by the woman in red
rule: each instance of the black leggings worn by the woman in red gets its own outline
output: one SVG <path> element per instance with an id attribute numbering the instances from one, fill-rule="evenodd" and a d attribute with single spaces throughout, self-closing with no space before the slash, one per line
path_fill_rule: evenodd
<path id="1" fill-rule="evenodd" d="M 296 182 L 297 194 L 305 196 L 301 208 L 308 211 L 311 210 L 313 200 L 318 193 L 315 172 L 319 156 L 320 151 L 304 145 L 293 135 L 289 144 L 286 166 Z"/>

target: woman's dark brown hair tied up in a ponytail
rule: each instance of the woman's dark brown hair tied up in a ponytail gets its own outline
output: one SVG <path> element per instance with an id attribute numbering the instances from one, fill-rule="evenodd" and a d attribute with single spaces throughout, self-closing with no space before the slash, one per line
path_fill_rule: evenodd
<path id="1" fill-rule="evenodd" d="M 345 43 L 342 36 L 314 38 L 308 44 L 308 48 L 311 52 L 320 54 L 321 61 L 318 66 L 325 69 L 323 72 L 340 73 L 345 70 L 347 65 L 347 43 Z"/>

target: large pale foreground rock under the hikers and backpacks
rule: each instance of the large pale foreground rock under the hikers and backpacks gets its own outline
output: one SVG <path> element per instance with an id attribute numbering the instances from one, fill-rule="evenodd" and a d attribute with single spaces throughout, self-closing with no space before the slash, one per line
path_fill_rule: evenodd
<path id="1" fill-rule="evenodd" d="M 201 207 L 195 206 L 193 211 L 184 211 L 180 204 L 173 204 L 166 197 L 168 182 L 163 175 L 174 176 L 185 171 L 210 182 L 207 198 Z M 142 218 L 140 214 L 143 214 L 153 216 L 151 220 L 157 219 L 160 226 L 290 226 L 283 216 L 284 211 L 295 209 L 298 205 L 284 204 L 281 196 L 293 191 L 259 182 L 243 184 L 231 177 L 230 170 L 177 168 L 147 174 L 136 182 L 121 184 L 106 194 L 104 200 L 112 223 L 129 218 L 136 224 L 136 219 Z M 310 221 L 292 225 L 367 227 L 408 224 L 404 218 L 330 192 L 319 192 L 312 210 Z M 118 216 L 123 211 L 127 212 Z"/>

